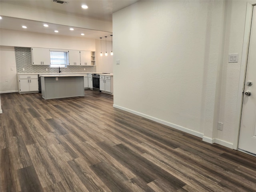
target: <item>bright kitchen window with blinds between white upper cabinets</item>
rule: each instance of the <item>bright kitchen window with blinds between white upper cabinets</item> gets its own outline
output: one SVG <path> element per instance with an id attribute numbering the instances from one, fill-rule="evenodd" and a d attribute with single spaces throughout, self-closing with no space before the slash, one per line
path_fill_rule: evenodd
<path id="1" fill-rule="evenodd" d="M 51 65 L 50 67 L 66 67 L 68 61 L 68 52 L 50 51 Z"/>

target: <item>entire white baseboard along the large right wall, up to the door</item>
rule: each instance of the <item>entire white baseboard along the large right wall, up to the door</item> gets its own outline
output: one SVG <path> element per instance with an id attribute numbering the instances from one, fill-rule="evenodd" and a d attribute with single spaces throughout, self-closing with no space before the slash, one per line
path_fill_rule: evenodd
<path id="1" fill-rule="evenodd" d="M 140 112 L 136 112 L 134 110 L 130 110 L 128 108 L 124 108 L 124 107 L 121 107 L 121 106 L 118 106 L 118 105 L 115 105 L 115 104 L 113 105 L 113 107 L 124 110 L 124 111 L 127 111 L 127 112 L 130 112 L 132 114 L 135 114 L 135 115 L 138 115 L 138 116 L 141 116 L 141 117 L 144 117 L 146 119 L 150 119 L 152 121 L 164 124 L 166 126 L 175 128 L 177 130 L 184 131 L 184 132 L 192 134 L 194 136 L 198 136 L 198 137 L 202 138 L 203 141 L 208 142 L 210 144 L 217 143 L 217 144 L 220 144 L 222 146 L 225 146 L 225 147 L 228 147 L 228 148 L 231 148 L 231 149 L 233 148 L 233 144 L 230 143 L 230 142 L 220 140 L 220 139 L 216 139 L 216 138 L 206 137 L 206 136 L 204 136 L 204 134 L 202 134 L 200 132 L 197 132 L 197 131 L 194 131 L 194 130 L 191 130 L 191 129 L 188 129 L 188 128 L 185 128 L 185 127 L 182 127 L 182 126 L 178 126 L 176 124 L 172 124 L 170 122 L 167 122 L 167 121 L 164 121 L 164 120 L 161 120 L 161 119 L 158 119 L 158 118 L 154 118 L 152 116 L 149 116 L 149 115 L 146 115 L 146 114 L 143 114 L 143 113 L 140 113 Z"/>

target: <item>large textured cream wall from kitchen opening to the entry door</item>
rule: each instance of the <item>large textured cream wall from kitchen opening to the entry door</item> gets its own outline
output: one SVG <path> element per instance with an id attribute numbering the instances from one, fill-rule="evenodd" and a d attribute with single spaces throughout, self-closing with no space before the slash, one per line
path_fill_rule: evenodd
<path id="1" fill-rule="evenodd" d="M 245 13 L 246 1 L 139 1 L 114 13 L 114 106 L 232 148 L 241 61 L 227 58 L 241 55 Z"/>

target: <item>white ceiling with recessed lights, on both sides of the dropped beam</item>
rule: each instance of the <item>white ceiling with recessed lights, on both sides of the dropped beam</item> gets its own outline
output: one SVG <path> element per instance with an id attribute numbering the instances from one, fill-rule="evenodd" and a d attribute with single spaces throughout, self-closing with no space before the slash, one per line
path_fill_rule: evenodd
<path id="1" fill-rule="evenodd" d="M 112 22 L 112 14 L 122 8 L 134 4 L 138 0 L 64 0 L 68 3 L 60 4 L 52 2 L 52 0 L 0 0 L 0 3 L 15 4 L 18 6 L 25 6 L 36 8 L 40 10 L 47 10 L 51 12 L 62 13 L 70 16 L 79 16 L 84 18 L 92 18 Z M 86 4 L 88 9 L 82 9 L 82 4 Z M 84 28 L 76 28 L 73 26 L 64 26 L 54 23 L 47 23 L 48 28 L 43 26 L 44 23 L 35 20 L 25 20 L 20 18 L 2 16 L 0 20 L 0 28 L 10 30 L 21 30 L 29 32 L 38 32 L 46 34 L 55 34 L 54 30 L 59 31 L 59 35 L 79 36 L 86 38 L 99 38 L 109 36 L 112 33 L 101 32 L 96 30 L 89 30 Z M 28 28 L 21 28 L 22 25 Z M 74 28 L 70 31 L 69 28 Z M 81 36 L 84 33 L 84 36 Z"/>

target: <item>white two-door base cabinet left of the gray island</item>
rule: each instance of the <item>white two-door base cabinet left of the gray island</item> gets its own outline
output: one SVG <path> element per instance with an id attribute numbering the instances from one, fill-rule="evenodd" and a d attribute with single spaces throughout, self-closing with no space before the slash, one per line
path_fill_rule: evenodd
<path id="1" fill-rule="evenodd" d="M 38 92 L 37 75 L 18 75 L 19 93 Z"/>

